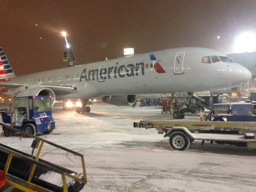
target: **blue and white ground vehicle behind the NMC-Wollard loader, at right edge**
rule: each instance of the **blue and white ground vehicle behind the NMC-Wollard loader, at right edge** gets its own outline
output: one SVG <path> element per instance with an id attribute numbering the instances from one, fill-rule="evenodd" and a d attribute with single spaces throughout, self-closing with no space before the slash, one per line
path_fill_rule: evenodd
<path id="1" fill-rule="evenodd" d="M 251 103 L 214 104 L 213 114 L 208 117 L 212 121 L 252 121 L 256 122 L 256 115 L 253 115 L 254 107 Z"/>

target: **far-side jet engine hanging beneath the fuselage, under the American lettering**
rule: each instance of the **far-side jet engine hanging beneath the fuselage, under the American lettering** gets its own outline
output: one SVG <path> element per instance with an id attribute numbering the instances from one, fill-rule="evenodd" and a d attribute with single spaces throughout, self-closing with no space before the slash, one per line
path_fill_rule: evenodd
<path id="1" fill-rule="evenodd" d="M 104 96 L 102 101 L 116 106 L 129 106 L 136 102 L 136 95 L 113 95 Z"/>

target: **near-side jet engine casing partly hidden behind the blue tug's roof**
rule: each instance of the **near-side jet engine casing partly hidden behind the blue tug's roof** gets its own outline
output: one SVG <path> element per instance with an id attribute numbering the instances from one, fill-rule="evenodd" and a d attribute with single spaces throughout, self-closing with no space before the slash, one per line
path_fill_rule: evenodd
<path id="1" fill-rule="evenodd" d="M 55 94 L 54 92 L 46 87 L 34 87 L 34 88 L 26 88 L 20 91 L 16 97 L 27 97 L 27 96 L 51 96 L 52 106 L 55 102 Z"/>

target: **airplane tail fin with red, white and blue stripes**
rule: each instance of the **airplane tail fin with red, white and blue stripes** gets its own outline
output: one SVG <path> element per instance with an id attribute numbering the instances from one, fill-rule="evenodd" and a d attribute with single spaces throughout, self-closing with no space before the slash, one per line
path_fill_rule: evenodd
<path id="1" fill-rule="evenodd" d="M 0 46 L 0 81 L 9 81 L 15 77 L 12 67 L 10 66 L 2 47 Z"/>

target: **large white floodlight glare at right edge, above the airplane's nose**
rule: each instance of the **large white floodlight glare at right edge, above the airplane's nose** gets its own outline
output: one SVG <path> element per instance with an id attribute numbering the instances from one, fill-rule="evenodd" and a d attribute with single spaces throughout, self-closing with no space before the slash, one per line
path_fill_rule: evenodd
<path id="1" fill-rule="evenodd" d="M 255 52 L 256 51 L 256 35 L 252 32 L 244 32 L 240 34 L 234 44 L 235 52 Z"/>

